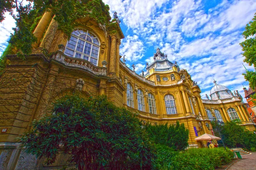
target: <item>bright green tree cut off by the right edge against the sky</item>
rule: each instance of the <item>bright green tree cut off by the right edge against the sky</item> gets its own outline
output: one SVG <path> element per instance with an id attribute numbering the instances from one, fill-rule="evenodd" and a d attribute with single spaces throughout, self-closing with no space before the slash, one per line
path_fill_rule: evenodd
<path id="1" fill-rule="evenodd" d="M 250 21 L 243 32 L 243 37 L 246 39 L 244 42 L 241 42 L 242 54 L 245 59 L 244 62 L 247 62 L 249 65 L 253 65 L 256 68 L 256 14 L 253 17 L 253 20 Z M 249 82 L 251 88 L 256 88 L 256 72 L 248 71 L 243 74 L 244 78 Z"/>

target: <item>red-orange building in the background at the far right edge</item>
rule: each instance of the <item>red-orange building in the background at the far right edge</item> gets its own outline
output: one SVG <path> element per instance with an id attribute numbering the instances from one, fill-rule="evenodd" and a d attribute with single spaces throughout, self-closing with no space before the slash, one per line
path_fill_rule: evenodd
<path id="1" fill-rule="evenodd" d="M 253 103 L 253 101 L 256 101 L 256 99 L 252 99 L 250 96 L 255 94 L 255 91 L 252 90 L 252 88 L 249 88 L 247 90 L 245 87 L 244 89 L 244 98 L 247 100 L 248 104 L 247 106 L 247 111 L 250 113 L 251 118 L 253 119 L 253 122 L 256 123 L 256 105 Z"/>

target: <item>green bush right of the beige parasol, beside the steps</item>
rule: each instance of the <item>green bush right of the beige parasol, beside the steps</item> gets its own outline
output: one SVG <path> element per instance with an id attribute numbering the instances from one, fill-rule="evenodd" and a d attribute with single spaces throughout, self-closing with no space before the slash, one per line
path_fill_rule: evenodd
<path id="1" fill-rule="evenodd" d="M 225 123 L 221 131 L 225 144 L 228 147 L 246 147 L 247 149 L 255 147 L 256 135 L 239 124 L 237 120 Z"/>

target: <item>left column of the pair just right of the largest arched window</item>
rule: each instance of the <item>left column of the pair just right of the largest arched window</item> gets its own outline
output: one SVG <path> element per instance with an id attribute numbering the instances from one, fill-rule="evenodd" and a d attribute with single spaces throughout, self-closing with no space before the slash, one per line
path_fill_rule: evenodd
<path id="1" fill-rule="evenodd" d="M 109 59 L 109 74 L 116 73 L 116 35 L 111 36 L 111 49 L 110 49 L 110 59 Z"/>

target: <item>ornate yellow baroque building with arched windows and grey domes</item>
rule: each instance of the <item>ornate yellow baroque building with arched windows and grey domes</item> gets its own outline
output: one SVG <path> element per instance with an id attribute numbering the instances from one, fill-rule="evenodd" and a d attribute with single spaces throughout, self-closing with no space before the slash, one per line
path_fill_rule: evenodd
<path id="1" fill-rule="evenodd" d="M 15 138 L 31 129 L 32 120 L 51 114 L 55 100 L 74 92 L 105 94 L 115 105 L 138 113 L 144 122 L 184 123 L 189 147 L 205 145 L 195 138 L 211 134 L 213 116 L 224 122 L 241 119 L 242 126 L 254 130 L 239 94 L 215 83 L 211 99 L 201 99 L 201 90 L 189 73 L 170 62 L 159 48 L 145 73 L 138 75 L 128 68 L 125 59 L 120 60 L 124 35 L 117 17 L 108 26 L 91 17 L 78 19 L 70 37 L 58 29 L 53 17 L 46 12 L 35 28 L 38 41 L 31 55 L 20 59 L 16 49 L 7 55 L 9 65 L 0 77 L 1 170 L 55 169 L 63 163 L 46 166 L 35 156 L 27 156 Z"/>

